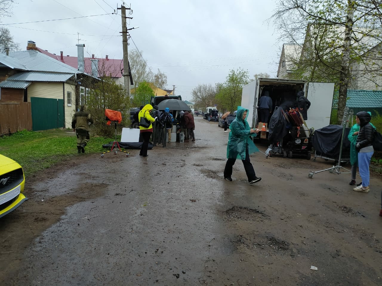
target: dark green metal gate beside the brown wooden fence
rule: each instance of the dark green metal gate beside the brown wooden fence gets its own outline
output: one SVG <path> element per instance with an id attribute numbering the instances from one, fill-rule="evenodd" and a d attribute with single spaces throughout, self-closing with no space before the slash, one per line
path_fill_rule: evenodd
<path id="1" fill-rule="evenodd" d="M 63 104 L 62 99 L 31 97 L 33 131 L 63 128 Z"/>

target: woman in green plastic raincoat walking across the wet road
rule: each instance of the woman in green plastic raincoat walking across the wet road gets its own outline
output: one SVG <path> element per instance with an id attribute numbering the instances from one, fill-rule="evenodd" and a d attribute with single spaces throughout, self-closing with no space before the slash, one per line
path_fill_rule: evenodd
<path id="1" fill-rule="evenodd" d="M 261 178 L 256 177 L 253 165 L 249 160 L 249 154 L 252 154 L 259 149 L 256 148 L 252 141 L 252 136 L 257 136 L 259 129 L 252 129 L 247 122 L 248 109 L 238 106 L 236 118 L 230 124 L 230 135 L 227 145 L 227 163 L 224 168 L 224 178 L 227 181 L 232 181 L 232 167 L 236 159 L 241 159 L 244 165 L 245 172 L 250 184 L 259 182 Z"/>

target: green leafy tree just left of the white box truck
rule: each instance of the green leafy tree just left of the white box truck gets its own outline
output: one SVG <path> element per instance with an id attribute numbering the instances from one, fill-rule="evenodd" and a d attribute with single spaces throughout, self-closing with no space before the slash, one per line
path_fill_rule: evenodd
<path id="1" fill-rule="evenodd" d="M 220 110 L 233 112 L 241 104 L 243 86 L 249 82 L 249 72 L 239 67 L 231 69 L 223 84 L 218 84 L 216 99 Z"/>

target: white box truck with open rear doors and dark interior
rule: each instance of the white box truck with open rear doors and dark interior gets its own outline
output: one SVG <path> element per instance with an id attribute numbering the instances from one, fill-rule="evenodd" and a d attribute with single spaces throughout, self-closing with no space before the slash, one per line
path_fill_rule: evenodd
<path id="1" fill-rule="evenodd" d="M 249 111 L 247 120 L 251 127 L 256 127 L 259 123 L 257 112 L 259 98 L 266 90 L 269 91 L 269 96 L 272 98 L 272 113 L 285 98 L 296 100 L 297 93 L 302 90 L 311 102 L 308 109 L 308 120 L 306 120 L 308 127 L 316 130 L 330 124 L 334 83 L 259 78 L 244 85 L 241 96 L 241 106 Z"/>

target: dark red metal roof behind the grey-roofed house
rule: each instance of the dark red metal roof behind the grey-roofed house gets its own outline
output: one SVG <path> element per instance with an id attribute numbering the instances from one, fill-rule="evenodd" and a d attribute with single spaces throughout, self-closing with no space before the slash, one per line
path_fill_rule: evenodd
<path id="1" fill-rule="evenodd" d="M 37 47 L 36 47 L 37 48 Z M 61 59 L 60 55 L 54 55 L 48 51 L 37 48 L 37 50 L 44 55 L 50 56 L 57 61 L 68 64 L 74 68 L 78 68 L 78 59 L 76 56 L 63 56 Z M 91 74 L 91 60 L 92 58 L 85 58 L 85 72 Z M 99 71 L 106 71 L 107 75 L 110 74 L 111 77 L 122 77 L 121 69 L 123 69 L 123 59 L 104 59 L 104 58 L 94 58 L 98 59 L 98 69 Z"/>

